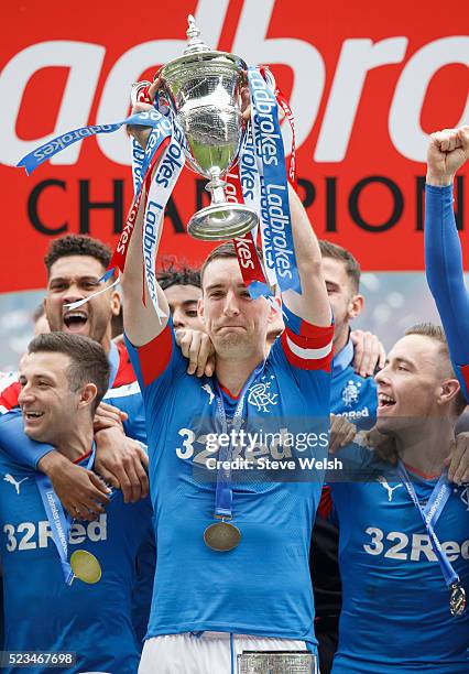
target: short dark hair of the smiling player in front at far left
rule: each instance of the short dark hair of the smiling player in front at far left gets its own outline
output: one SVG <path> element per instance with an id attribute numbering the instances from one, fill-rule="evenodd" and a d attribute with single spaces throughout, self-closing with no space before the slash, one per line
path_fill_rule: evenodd
<path id="1" fill-rule="evenodd" d="M 98 390 L 92 401 L 95 413 L 109 387 L 110 367 L 105 349 L 100 344 L 83 335 L 67 333 L 46 333 L 34 337 L 28 346 L 29 354 L 65 354 L 70 359 L 66 377 L 70 391 L 78 391 L 87 383 Z"/>

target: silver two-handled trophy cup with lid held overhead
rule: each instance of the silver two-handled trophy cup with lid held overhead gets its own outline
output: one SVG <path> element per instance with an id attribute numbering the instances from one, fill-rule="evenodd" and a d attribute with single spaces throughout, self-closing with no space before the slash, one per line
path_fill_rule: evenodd
<path id="1" fill-rule="evenodd" d="M 184 55 L 163 66 L 161 102 L 174 110 L 186 135 L 186 159 L 206 186 L 211 204 L 198 210 L 187 226 L 195 239 L 220 241 L 250 231 L 258 224 L 255 210 L 230 203 L 223 176 L 236 164 L 244 138 L 241 87 L 247 65 L 233 54 L 215 52 L 199 39 L 194 17 L 188 18 L 188 44 Z"/>

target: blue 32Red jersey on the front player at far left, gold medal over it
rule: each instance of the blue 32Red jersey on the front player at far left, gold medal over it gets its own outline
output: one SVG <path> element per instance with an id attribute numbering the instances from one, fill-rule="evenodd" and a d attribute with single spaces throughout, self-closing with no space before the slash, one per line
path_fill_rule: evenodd
<path id="1" fill-rule="evenodd" d="M 121 492 L 114 490 L 99 520 L 73 523 L 68 554 L 89 551 L 99 561 L 102 576 L 94 585 L 75 579 L 67 586 L 35 472 L 0 449 L 4 649 L 75 652 L 76 666 L 56 670 L 67 674 L 134 674 L 140 652 L 131 622 L 131 595 L 135 556 L 151 513 L 150 499 L 124 504 Z"/>

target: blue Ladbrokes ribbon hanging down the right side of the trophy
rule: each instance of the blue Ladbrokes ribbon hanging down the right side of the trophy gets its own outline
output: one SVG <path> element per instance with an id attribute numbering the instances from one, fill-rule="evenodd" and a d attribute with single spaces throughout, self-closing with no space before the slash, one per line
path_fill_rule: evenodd
<path id="1" fill-rule="evenodd" d="M 268 278 L 282 292 L 301 292 L 290 217 L 285 152 L 277 101 L 259 68 L 249 66 L 252 132 L 261 184 L 261 237 Z"/>

